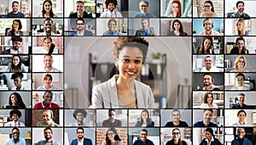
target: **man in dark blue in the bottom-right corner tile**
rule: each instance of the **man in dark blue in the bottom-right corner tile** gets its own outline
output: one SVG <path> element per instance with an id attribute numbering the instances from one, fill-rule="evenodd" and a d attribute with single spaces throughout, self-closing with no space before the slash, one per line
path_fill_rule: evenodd
<path id="1" fill-rule="evenodd" d="M 244 137 L 246 134 L 244 128 L 237 129 L 237 138 L 231 142 L 231 145 L 253 145 L 253 143 Z"/>

